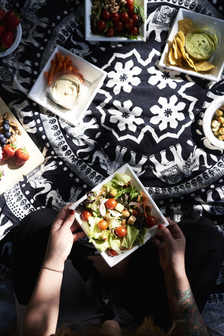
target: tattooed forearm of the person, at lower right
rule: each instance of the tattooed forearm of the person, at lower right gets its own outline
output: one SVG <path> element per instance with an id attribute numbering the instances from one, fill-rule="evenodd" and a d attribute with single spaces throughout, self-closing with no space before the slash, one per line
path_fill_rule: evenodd
<path id="1" fill-rule="evenodd" d="M 209 336 L 200 311 L 197 309 L 186 273 L 176 274 L 169 270 L 165 274 L 165 281 L 172 319 L 181 321 L 177 323 L 176 335 Z"/>

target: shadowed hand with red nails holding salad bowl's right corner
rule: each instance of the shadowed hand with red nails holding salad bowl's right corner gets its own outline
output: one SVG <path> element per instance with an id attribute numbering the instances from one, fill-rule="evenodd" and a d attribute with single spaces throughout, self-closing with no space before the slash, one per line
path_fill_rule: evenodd
<path id="1" fill-rule="evenodd" d="M 165 274 L 174 272 L 176 275 L 185 274 L 185 247 L 186 238 L 174 221 L 169 221 L 166 228 L 158 225 L 158 237 L 153 237 L 151 242 L 157 248 L 160 258 L 160 265 Z"/>

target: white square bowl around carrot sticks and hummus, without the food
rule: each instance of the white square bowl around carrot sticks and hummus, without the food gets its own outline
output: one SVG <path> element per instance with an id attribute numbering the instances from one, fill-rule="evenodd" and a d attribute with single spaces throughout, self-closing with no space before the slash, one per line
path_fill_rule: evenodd
<path id="1" fill-rule="evenodd" d="M 69 55 L 73 65 L 76 66 L 78 71 L 83 75 L 84 83 L 82 91 L 80 92 L 80 97 L 76 105 L 71 110 L 66 110 L 62 106 L 53 102 L 47 91 L 47 80 L 44 76 L 44 71 L 50 71 L 51 59 L 55 58 L 56 52 L 61 52 L 65 57 L 66 55 Z M 97 66 L 85 61 L 85 59 L 73 54 L 73 52 L 57 45 L 48 59 L 48 62 L 46 62 L 41 73 L 36 79 L 33 87 L 29 91 L 28 97 L 43 106 L 45 109 L 48 109 L 49 111 L 57 114 L 60 118 L 76 126 L 80 118 L 82 118 L 83 114 L 90 106 L 92 99 L 94 99 L 94 96 L 97 94 L 99 88 L 102 86 L 105 77 L 106 71 L 99 69 Z"/>

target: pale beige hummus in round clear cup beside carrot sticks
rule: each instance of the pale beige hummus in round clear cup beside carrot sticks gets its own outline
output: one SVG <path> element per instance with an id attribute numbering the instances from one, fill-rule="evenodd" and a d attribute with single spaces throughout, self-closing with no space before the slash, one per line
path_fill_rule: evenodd
<path id="1" fill-rule="evenodd" d="M 73 73 L 56 75 L 50 85 L 50 95 L 52 99 L 64 107 L 64 109 L 73 109 L 73 106 L 80 93 L 81 83 L 78 77 Z"/>

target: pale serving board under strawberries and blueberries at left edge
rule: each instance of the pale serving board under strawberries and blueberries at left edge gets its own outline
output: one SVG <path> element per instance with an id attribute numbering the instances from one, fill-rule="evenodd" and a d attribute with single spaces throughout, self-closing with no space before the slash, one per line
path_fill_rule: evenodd
<path id="1" fill-rule="evenodd" d="M 0 162 L 0 168 L 3 169 L 4 176 L 0 181 L 0 194 L 4 193 L 10 186 L 13 186 L 15 183 L 18 183 L 24 176 L 29 174 L 34 170 L 38 165 L 41 165 L 44 161 L 42 153 L 38 150 L 37 146 L 31 140 L 25 129 L 20 125 L 18 120 L 13 116 L 8 106 L 3 102 L 0 97 L 0 116 L 3 116 L 4 113 L 9 113 L 10 121 L 14 121 L 18 125 L 18 128 L 21 132 L 21 135 L 16 137 L 15 143 L 17 148 L 26 147 L 29 152 L 30 158 L 22 166 L 15 165 L 14 158 L 10 160 Z"/>

